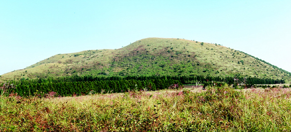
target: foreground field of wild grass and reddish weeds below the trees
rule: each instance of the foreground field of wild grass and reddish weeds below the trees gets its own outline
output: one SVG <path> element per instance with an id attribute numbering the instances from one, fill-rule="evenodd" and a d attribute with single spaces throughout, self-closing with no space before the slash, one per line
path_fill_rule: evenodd
<path id="1" fill-rule="evenodd" d="M 289 88 L 53 96 L 0 96 L 0 131 L 291 132 Z"/>

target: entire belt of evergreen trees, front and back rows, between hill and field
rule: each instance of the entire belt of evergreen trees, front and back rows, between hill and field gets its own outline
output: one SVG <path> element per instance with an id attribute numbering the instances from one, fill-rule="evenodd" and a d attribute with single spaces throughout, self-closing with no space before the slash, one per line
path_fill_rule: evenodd
<path id="1" fill-rule="evenodd" d="M 216 84 L 241 84 L 264 85 L 284 84 L 284 80 L 243 78 L 243 77 L 204 77 L 204 76 L 71 76 L 48 79 L 32 79 L 12 81 L 16 88 L 12 92 L 20 96 L 45 94 L 50 91 L 57 92 L 61 96 L 88 94 L 90 92 L 123 92 L 128 90 L 159 90 L 169 88 L 171 85 L 195 84 L 200 82 L 204 87 Z"/>

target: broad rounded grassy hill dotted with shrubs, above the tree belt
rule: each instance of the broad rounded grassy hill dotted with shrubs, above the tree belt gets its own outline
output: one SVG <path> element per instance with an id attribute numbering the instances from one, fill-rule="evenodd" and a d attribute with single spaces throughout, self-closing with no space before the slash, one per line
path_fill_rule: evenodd
<path id="1" fill-rule="evenodd" d="M 291 80 L 290 72 L 219 44 L 147 38 L 119 49 L 57 54 L 25 69 L 3 74 L 0 82 L 71 75 L 209 75 Z"/>

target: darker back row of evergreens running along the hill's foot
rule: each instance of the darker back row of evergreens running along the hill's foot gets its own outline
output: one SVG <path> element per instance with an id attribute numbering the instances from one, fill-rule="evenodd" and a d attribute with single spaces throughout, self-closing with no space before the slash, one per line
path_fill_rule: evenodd
<path id="1" fill-rule="evenodd" d="M 120 81 L 120 80 L 179 80 L 182 84 L 193 84 L 196 82 L 200 82 L 202 84 L 207 82 L 223 82 L 228 85 L 232 85 L 235 82 L 235 79 L 242 82 L 244 81 L 244 77 L 211 77 L 211 76 L 70 76 L 70 77 L 59 77 L 59 78 L 48 78 L 48 79 L 32 79 L 32 80 L 21 80 L 21 81 L 13 81 L 12 83 L 15 85 L 18 84 L 26 84 L 29 85 L 31 83 L 62 83 L 62 82 L 93 82 L 93 81 Z M 248 77 L 244 82 L 248 85 L 265 85 L 265 84 L 284 84 L 285 80 L 274 80 L 268 78 L 256 78 L 256 77 Z"/>

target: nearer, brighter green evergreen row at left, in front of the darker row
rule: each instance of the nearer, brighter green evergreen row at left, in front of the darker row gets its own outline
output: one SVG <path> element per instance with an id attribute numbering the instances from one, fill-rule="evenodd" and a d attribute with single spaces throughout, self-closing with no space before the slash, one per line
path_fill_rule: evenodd
<path id="1" fill-rule="evenodd" d="M 42 82 L 30 84 L 18 84 L 14 93 L 20 96 L 45 94 L 50 91 L 61 96 L 71 96 L 100 93 L 100 92 L 124 92 L 128 90 L 159 90 L 169 88 L 172 85 L 182 86 L 179 80 L 105 80 L 105 81 L 75 81 L 75 82 Z"/>

